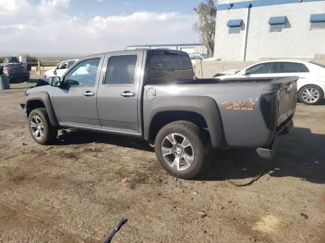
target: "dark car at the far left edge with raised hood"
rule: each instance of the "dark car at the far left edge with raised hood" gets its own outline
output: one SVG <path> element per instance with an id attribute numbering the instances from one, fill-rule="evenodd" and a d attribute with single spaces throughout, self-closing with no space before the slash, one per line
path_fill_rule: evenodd
<path id="1" fill-rule="evenodd" d="M 19 63 L 2 63 L 0 65 L 3 66 L 3 75 L 9 78 L 10 83 L 29 81 L 29 71 L 23 65 Z"/>

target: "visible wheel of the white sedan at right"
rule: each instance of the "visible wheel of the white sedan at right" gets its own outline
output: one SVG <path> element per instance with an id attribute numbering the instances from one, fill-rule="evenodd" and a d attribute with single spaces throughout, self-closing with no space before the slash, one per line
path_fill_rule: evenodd
<path id="1" fill-rule="evenodd" d="M 316 85 L 307 85 L 299 91 L 298 98 L 306 105 L 317 105 L 324 98 L 324 92 Z"/>

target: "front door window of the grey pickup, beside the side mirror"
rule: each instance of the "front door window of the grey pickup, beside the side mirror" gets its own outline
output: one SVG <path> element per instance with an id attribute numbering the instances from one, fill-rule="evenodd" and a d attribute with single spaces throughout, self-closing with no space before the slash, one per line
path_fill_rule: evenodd
<path id="1" fill-rule="evenodd" d="M 96 83 L 96 74 L 101 58 L 88 59 L 78 63 L 66 76 L 64 82 L 68 86 L 85 85 L 93 86 Z"/>

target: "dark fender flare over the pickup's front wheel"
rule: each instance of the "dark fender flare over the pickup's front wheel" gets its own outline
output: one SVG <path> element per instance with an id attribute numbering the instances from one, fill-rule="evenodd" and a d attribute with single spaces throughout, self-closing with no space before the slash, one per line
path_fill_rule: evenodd
<path id="1" fill-rule="evenodd" d="M 30 110 L 30 108 L 33 108 L 33 107 L 31 107 L 31 103 L 32 103 L 31 101 L 35 101 L 35 100 L 43 102 L 52 126 L 58 127 L 59 124 L 58 124 L 57 118 L 55 116 L 54 109 L 53 109 L 49 94 L 45 91 L 28 94 L 27 99 L 26 99 L 26 110 L 27 111 Z M 27 112 L 27 115 L 28 114 L 29 114 L 29 112 Z"/>

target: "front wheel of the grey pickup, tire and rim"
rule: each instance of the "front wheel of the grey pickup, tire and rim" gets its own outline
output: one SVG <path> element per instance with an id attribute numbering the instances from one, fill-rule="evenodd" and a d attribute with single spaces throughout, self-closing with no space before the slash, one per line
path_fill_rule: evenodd
<path id="1" fill-rule="evenodd" d="M 28 116 L 29 132 L 39 144 L 48 145 L 57 137 L 57 129 L 52 126 L 46 108 L 34 109 Z"/>

